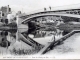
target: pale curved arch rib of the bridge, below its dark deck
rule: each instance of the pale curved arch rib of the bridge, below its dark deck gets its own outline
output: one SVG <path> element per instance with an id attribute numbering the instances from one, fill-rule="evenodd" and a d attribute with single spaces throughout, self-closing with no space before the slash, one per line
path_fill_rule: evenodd
<path id="1" fill-rule="evenodd" d="M 67 16 L 67 17 L 74 17 L 74 18 L 80 18 L 80 15 L 73 15 L 73 14 L 63 14 L 63 13 L 41 13 L 41 14 L 33 14 L 22 21 L 24 23 L 25 21 L 28 22 L 32 18 L 36 17 L 42 17 L 42 16 Z"/>

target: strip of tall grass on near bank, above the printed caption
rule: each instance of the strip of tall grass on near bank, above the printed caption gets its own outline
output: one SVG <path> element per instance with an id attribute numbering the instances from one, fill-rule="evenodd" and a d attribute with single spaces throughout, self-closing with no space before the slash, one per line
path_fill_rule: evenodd
<path id="1" fill-rule="evenodd" d="M 35 49 L 15 49 L 10 50 L 10 53 L 12 55 L 33 55 L 38 53 L 38 50 Z"/>

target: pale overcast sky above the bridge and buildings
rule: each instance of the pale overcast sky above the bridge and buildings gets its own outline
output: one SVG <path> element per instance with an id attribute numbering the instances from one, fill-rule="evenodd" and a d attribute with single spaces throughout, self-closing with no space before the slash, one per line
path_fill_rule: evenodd
<path id="1" fill-rule="evenodd" d="M 0 0 L 0 6 L 10 5 L 13 11 L 21 10 L 30 12 L 43 9 L 44 7 L 58 7 L 79 4 L 80 0 Z"/>

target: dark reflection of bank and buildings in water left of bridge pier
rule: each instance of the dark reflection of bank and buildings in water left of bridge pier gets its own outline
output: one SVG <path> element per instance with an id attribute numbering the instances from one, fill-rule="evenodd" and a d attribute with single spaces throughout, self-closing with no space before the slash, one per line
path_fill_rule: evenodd
<path id="1" fill-rule="evenodd" d="M 17 24 L 3 24 L 0 26 L 0 46 L 9 47 L 16 40 Z"/>

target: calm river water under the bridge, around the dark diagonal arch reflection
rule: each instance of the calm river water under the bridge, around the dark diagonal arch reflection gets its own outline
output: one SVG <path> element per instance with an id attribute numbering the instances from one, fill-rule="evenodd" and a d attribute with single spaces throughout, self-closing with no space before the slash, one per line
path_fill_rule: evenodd
<path id="1" fill-rule="evenodd" d="M 67 31 L 59 30 L 54 26 L 48 27 L 48 25 L 45 26 L 45 24 L 43 24 L 43 27 L 39 27 L 33 23 L 31 24 L 32 25 L 21 24 L 18 26 L 18 28 L 15 29 L 14 26 L 16 25 L 12 24 L 12 26 L 9 26 L 9 30 L 0 30 L 0 52 L 2 51 L 5 54 L 7 51 L 7 53 L 13 54 L 14 50 L 20 51 L 25 49 L 29 51 L 34 51 L 34 48 L 32 48 L 20 39 L 19 34 L 22 34 L 23 32 L 26 34 L 26 36 L 29 36 L 34 41 L 44 46 L 54 40 L 60 39 L 65 34 L 69 33 Z"/>

